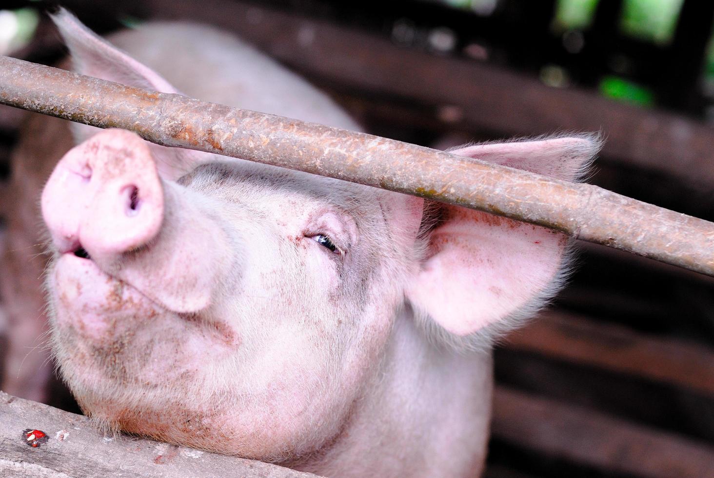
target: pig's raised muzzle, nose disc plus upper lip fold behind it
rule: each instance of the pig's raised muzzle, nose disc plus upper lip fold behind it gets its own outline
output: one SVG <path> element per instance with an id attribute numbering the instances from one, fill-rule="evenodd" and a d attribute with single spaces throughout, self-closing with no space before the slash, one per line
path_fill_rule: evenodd
<path id="1" fill-rule="evenodd" d="M 91 269 L 164 309 L 193 313 L 211 304 L 231 264 L 216 206 L 164 181 L 149 144 L 129 131 L 108 129 L 71 149 L 41 206 L 60 253 L 57 277 Z M 58 279 L 55 287 L 69 285 Z"/>

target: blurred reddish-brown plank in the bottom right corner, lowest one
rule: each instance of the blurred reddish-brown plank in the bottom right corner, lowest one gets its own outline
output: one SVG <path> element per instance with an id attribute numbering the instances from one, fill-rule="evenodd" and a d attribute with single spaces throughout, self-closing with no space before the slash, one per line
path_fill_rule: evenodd
<path id="1" fill-rule="evenodd" d="M 645 478 L 713 477 L 714 447 L 592 409 L 496 387 L 493 436 L 505 442 Z"/>

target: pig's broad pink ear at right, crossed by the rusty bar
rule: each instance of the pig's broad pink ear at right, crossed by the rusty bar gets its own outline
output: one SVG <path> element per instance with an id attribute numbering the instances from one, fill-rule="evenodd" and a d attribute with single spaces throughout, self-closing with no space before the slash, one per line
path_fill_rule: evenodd
<path id="1" fill-rule="evenodd" d="M 575 179 L 597 153 L 595 136 L 466 146 L 473 158 Z M 563 282 L 568 238 L 540 226 L 440 204 L 426 258 L 406 290 L 416 317 L 455 344 L 478 345 L 542 307 Z"/>

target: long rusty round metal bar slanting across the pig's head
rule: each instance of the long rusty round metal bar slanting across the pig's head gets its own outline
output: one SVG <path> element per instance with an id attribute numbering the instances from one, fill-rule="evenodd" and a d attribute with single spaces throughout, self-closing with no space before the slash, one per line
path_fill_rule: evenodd
<path id="1" fill-rule="evenodd" d="M 0 104 L 511 217 L 714 276 L 714 224 L 592 186 L 0 57 Z"/>

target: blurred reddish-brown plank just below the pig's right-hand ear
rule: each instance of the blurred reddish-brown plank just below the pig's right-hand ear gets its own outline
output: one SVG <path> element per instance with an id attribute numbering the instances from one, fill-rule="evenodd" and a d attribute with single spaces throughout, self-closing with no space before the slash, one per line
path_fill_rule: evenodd
<path id="1" fill-rule="evenodd" d="M 714 396 L 714 351 L 574 314 L 543 312 L 508 335 L 506 348 L 632 374 Z"/>

